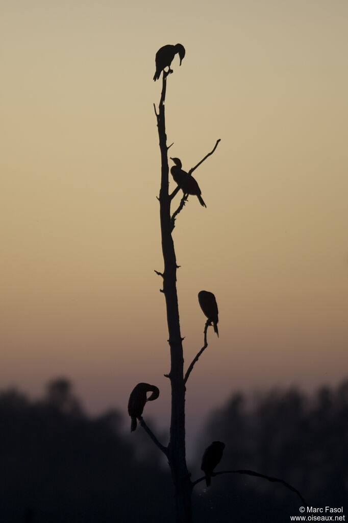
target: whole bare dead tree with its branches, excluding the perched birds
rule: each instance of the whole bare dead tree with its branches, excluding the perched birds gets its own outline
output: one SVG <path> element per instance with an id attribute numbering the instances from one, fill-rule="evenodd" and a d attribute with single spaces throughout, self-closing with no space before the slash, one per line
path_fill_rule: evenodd
<path id="1" fill-rule="evenodd" d="M 183 194 L 178 208 L 171 213 L 171 202 L 173 198 L 178 194 L 181 189 L 180 186 L 173 190 L 169 194 L 169 167 L 168 167 L 168 149 L 171 145 L 167 146 L 167 135 L 166 135 L 166 119 L 165 119 L 165 98 L 167 88 L 167 76 L 172 71 L 163 71 L 162 79 L 162 90 L 158 110 L 154 104 L 155 115 L 157 119 L 158 137 L 159 137 L 159 148 L 161 155 L 161 185 L 159 192 L 159 207 L 160 207 L 160 228 L 161 228 L 161 244 L 162 253 L 164 259 L 164 270 L 163 272 L 155 271 L 158 276 L 163 279 L 163 292 L 166 309 L 167 309 L 167 324 L 169 334 L 169 347 L 170 347 L 170 371 L 165 376 L 170 380 L 171 385 L 171 419 L 170 419 L 170 437 L 168 446 L 161 444 L 153 431 L 146 425 L 142 415 L 138 416 L 140 425 L 144 428 L 147 434 L 152 438 L 157 447 L 165 454 L 168 459 L 168 464 L 171 471 L 171 477 L 174 485 L 175 494 L 175 509 L 176 509 L 176 523 L 192 523 L 192 491 L 193 487 L 203 481 L 206 476 L 200 477 L 198 480 L 192 481 L 191 474 L 187 468 L 186 455 L 185 455 L 185 392 L 187 380 L 190 373 L 198 361 L 199 357 L 207 347 L 207 329 L 208 326 L 212 325 L 208 319 L 204 327 L 204 345 L 190 363 L 188 369 L 184 373 L 184 360 L 183 360 L 183 349 L 182 341 L 183 338 L 180 332 L 179 322 L 179 308 L 178 308 L 178 294 L 177 294 L 177 260 L 175 254 L 175 248 L 172 238 L 172 232 L 175 228 L 175 221 L 178 217 L 179 212 L 183 209 L 185 202 L 187 201 L 187 194 Z M 216 150 L 220 140 L 217 140 L 213 150 L 207 153 L 202 160 L 192 167 L 188 173 L 190 176 L 193 171 L 198 168 L 208 156 L 212 155 Z M 216 325 L 215 325 L 216 327 Z M 148 385 L 148 384 L 139 384 Z M 152 385 L 151 385 L 152 386 Z M 148 398 L 148 401 L 153 398 Z M 143 406 L 142 405 L 142 408 Z M 141 412 L 142 412 L 141 408 Z M 249 474 L 258 477 L 263 477 L 269 481 L 281 482 L 286 487 L 300 494 L 296 489 L 288 485 L 282 480 L 277 478 L 265 476 L 263 474 L 253 472 L 250 470 L 229 470 L 214 473 L 226 474 L 226 473 L 238 473 L 238 474 Z M 304 499 L 300 496 L 301 501 Z"/>

